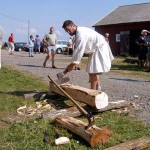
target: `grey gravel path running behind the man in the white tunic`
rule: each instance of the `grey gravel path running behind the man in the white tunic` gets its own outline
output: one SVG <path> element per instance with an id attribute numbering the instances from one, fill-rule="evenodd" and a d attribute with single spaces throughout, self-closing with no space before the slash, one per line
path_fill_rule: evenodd
<path id="1" fill-rule="evenodd" d="M 46 54 L 41 53 L 35 54 L 34 57 L 28 57 L 27 52 L 15 52 L 14 55 L 9 55 L 7 50 L 2 50 L 2 65 L 11 65 L 17 69 L 31 72 L 48 83 L 47 75 L 56 80 L 56 74 L 62 72 L 68 64 L 65 59 L 67 58 L 71 61 L 71 57 L 62 54 L 56 55 L 55 64 L 58 68 L 52 69 L 51 61 L 47 63 L 46 68 L 43 68 L 42 64 L 45 56 Z M 70 77 L 71 82 L 75 85 L 90 87 L 85 69 L 73 70 L 67 76 Z M 125 99 L 130 102 L 142 103 L 140 113 L 138 111 L 134 115 L 144 122 L 150 123 L 150 79 L 128 78 L 109 72 L 101 76 L 101 82 L 102 90 L 108 94 L 109 99 Z"/>

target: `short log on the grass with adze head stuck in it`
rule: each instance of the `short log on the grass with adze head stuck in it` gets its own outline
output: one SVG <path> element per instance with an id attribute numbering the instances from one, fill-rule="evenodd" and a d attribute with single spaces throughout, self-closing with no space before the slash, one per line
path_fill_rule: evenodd
<path id="1" fill-rule="evenodd" d="M 107 143 L 109 141 L 109 136 L 112 134 L 112 131 L 107 126 L 103 128 L 93 126 L 90 129 L 85 130 L 88 125 L 87 123 L 69 116 L 58 116 L 55 119 L 55 122 L 59 126 L 64 127 L 85 139 L 92 147 Z"/>

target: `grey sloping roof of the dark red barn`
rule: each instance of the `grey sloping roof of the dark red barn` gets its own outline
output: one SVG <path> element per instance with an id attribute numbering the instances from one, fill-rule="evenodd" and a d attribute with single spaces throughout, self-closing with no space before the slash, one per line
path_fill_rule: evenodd
<path id="1" fill-rule="evenodd" d="M 119 6 L 93 26 L 150 21 L 150 3 Z"/>

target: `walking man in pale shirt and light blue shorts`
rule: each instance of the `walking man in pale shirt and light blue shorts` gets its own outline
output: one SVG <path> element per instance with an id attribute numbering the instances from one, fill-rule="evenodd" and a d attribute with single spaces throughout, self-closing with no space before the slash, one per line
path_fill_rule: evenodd
<path id="1" fill-rule="evenodd" d="M 52 58 L 52 68 L 56 68 L 54 65 L 54 57 L 56 54 L 56 44 L 57 44 L 57 37 L 54 33 L 54 28 L 50 28 L 50 32 L 46 34 L 43 38 L 44 43 L 47 45 L 47 56 L 45 58 L 45 61 L 43 63 L 43 67 L 46 67 L 46 62 L 49 58 Z"/>

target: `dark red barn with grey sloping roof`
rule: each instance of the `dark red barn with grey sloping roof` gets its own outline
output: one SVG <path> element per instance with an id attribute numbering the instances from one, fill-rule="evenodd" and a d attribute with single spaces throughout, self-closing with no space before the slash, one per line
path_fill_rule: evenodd
<path id="1" fill-rule="evenodd" d="M 109 33 L 114 55 L 138 54 L 135 40 L 143 29 L 150 29 L 150 3 L 119 6 L 93 25 L 101 34 Z"/>

